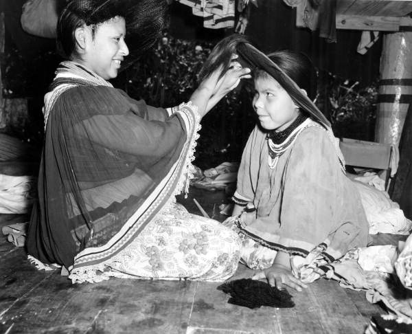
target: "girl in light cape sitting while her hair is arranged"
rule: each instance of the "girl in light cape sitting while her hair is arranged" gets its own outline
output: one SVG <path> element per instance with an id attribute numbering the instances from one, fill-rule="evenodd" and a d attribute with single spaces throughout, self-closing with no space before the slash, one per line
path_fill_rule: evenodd
<path id="1" fill-rule="evenodd" d="M 215 66 L 231 52 L 253 70 L 259 122 L 244 148 L 227 225 L 236 226 L 255 278 L 300 291 L 319 277 L 317 266 L 367 244 L 365 212 L 330 124 L 311 100 L 310 60 L 288 51 L 268 58 L 231 37 L 212 52 Z"/>

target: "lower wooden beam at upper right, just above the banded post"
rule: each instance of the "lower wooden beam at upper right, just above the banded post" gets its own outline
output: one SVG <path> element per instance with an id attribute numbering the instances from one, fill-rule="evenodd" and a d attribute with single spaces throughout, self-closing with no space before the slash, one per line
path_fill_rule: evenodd
<path id="1" fill-rule="evenodd" d="M 336 29 L 397 32 L 399 25 L 399 17 L 336 14 Z"/>

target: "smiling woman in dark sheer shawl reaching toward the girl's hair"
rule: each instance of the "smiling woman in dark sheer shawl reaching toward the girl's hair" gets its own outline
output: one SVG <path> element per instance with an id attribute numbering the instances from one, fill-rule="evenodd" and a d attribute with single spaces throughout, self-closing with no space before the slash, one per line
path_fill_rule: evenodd
<path id="1" fill-rule="evenodd" d="M 109 276 L 225 280 L 239 241 L 176 205 L 187 190 L 199 121 L 248 76 L 236 62 L 214 71 L 190 102 L 147 106 L 106 81 L 129 49 L 150 47 L 163 1 L 75 0 L 58 20 L 60 64 L 45 96 L 45 144 L 27 237 L 32 261 L 56 263 L 73 282 Z M 127 29 L 126 29 L 127 26 Z"/>

